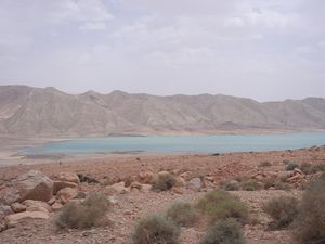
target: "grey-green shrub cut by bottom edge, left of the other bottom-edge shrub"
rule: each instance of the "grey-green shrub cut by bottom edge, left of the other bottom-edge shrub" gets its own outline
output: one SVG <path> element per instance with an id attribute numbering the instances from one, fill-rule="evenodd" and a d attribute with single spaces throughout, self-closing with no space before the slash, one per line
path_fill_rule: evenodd
<path id="1" fill-rule="evenodd" d="M 153 215 L 141 219 L 131 237 L 132 244 L 179 244 L 179 228 L 161 216 Z"/>

